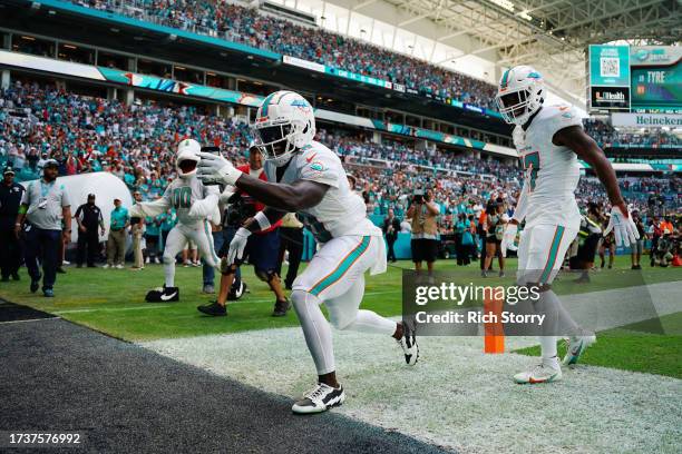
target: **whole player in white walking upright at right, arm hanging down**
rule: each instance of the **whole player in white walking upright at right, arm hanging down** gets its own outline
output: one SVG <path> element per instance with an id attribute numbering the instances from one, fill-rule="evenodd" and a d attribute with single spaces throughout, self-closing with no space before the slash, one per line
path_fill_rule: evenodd
<path id="1" fill-rule="evenodd" d="M 518 246 L 519 285 L 538 286 L 538 312 L 547 316 L 540 336 L 542 363 L 514 376 L 517 383 L 548 383 L 562 378 L 557 359 L 557 335 L 568 336 L 564 364 L 575 364 L 595 336 L 579 328 L 563 308 L 552 282 L 566 249 L 575 238 L 581 214 L 575 200 L 579 179 L 578 157 L 590 164 L 604 185 L 612 205 L 611 223 L 617 244 L 629 246 L 639 237 L 621 191 L 615 171 L 597 144 L 583 130 L 571 106 L 544 106 L 544 81 L 535 69 L 518 66 L 504 72 L 498 91 L 499 112 L 514 129 L 525 180 L 517 209 L 503 239 L 503 251 L 514 241 L 517 226 L 526 226 Z"/>

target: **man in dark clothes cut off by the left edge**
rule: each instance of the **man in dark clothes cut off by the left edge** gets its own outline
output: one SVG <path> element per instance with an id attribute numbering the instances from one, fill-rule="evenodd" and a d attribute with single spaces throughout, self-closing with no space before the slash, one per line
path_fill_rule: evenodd
<path id="1" fill-rule="evenodd" d="M 14 221 L 19 214 L 23 186 L 14 182 L 14 170 L 7 167 L 2 172 L 0 184 L 0 270 L 2 282 L 9 277 L 19 280 L 19 266 L 21 265 L 21 241 L 14 235 Z"/>

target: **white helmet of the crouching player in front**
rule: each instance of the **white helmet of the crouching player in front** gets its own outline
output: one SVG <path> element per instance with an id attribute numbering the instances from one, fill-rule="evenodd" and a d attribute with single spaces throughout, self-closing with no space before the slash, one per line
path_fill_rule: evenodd
<path id="1" fill-rule="evenodd" d="M 263 100 L 252 129 L 255 146 L 266 160 L 279 167 L 315 137 L 315 116 L 310 102 L 301 95 L 275 91 Z"/>

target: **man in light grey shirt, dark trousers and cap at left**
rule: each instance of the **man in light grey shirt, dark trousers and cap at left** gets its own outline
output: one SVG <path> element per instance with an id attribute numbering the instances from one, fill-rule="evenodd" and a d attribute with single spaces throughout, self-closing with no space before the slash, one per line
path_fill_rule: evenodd
<path id="1" fill-rule="evenodd" d="M 59 241 L 66 243 L 71 236 L 71 203 L 64 185 L 57 185 L 58 169 L 57 160 L 48 159 L 45 162 L 42 178 L 29 184 L 23 194 L 14 226 L 17 236 L 23 227 L 26 267 L 31 276 L 31 293 L 40 286 L 38 259 L 41 258 L 42 294 L 47 297 L 55 296 L 52 287 L 57 278 Z M 26 226 L 25 219 L 28 220 Z"/>

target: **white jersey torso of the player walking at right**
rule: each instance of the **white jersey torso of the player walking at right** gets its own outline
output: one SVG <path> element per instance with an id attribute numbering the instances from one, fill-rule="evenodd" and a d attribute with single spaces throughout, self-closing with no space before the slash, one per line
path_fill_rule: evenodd
<path id="1" fill-rule="evenodd" d="M 576 154 L 552 142 L 554 135 L 567 127 L 579 126 L 578 112 L 571 106 L 544 106 L 528 129 L 514 129 L 514 145 L 525 171 L 528 197 L 525 201 L 526 225 L 562 225 L 577 229 L 581 213 L 575 189 L 581 178 Z"/>

